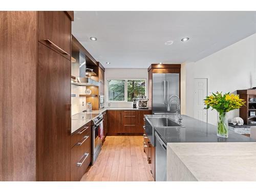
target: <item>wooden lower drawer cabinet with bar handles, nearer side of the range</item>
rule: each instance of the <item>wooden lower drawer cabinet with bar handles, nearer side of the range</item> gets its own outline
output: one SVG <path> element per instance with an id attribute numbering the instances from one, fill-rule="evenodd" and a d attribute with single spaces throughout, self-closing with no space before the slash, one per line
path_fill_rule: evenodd
<path id="1" fill-rule="evenodd" d="M 92 161 L 91 122 L 72 135 L 71 141 L 71 181 L 80 181 Z"/>

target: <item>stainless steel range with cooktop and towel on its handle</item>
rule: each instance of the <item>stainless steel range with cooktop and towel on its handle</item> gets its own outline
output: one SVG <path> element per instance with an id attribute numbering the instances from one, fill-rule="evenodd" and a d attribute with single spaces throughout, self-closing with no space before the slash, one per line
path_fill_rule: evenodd
<path id="1" fill-rule="evenodd" d="M 96 161 L 99 152 L 101 151 L 102 140 L 99 138 L 99 126 L 103 121 L 103 116 L 100 114 L 98 117 L 93 119 L 93 148 L 92 148 L 92 164 Z"/>

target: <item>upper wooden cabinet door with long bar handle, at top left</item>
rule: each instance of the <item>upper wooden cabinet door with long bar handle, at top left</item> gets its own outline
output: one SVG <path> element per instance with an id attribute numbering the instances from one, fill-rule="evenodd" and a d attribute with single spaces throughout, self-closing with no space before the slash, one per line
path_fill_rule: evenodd
<path id="1" fill-rule="evenodd" d="M 70 59 L 70 17 L 64 11 L 38 11 L 38 40 Z"/>

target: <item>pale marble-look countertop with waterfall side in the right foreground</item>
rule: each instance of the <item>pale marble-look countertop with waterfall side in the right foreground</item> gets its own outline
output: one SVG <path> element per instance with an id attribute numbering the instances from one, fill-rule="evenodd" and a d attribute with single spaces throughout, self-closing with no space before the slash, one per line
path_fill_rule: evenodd
<path id="1" fill-rule="evenodd" d="M 256 181 L 256 142 L 167 143 L 167 181 Z"/>

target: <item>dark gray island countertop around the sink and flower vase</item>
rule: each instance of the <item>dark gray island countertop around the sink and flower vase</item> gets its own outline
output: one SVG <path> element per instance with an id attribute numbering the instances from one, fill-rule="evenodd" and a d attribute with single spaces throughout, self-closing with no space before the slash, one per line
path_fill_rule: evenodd
<path id="1" fill-rule="evenodd" d="M 174 115 L 145 115 L 145 117 L 169 117 Z M 217 126 L 182 115 L 181 124 L 184 127 L 155 127 L 155 131 L 161 139 L 171 142 L 251 142 L 256 141 L 233 131 L 228 132 L 228 138 L 217 136 Z"/>

